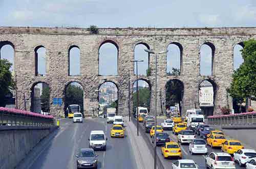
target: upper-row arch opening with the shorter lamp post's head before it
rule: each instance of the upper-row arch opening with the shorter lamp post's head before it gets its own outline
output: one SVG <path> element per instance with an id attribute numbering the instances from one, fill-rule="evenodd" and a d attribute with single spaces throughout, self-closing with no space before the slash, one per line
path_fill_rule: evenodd
<path id="1" fill-rule="evenodd" d="M 143 58 L 142 58 L 142 57 L 139 57 L 139 58 L 136 58 L 136 57 L 138 56 L 138 54 L 136 55 L 136 47 L 137 47 L 137 46 L 140 47 L 140 45 L 145 46 L 145 48 L 148 49 L 148 50 L 150 50 L 150 46 L 149 46 L 147 43 L 145 43 L 145 42 L 143 42 L 143 41 L 140 41 L 140 42 L 137 42 L 137 43 L 134 45 L 134 49 L 133 49 L 133 54 L 134 54 L 133 58 L 134 58 L 134 60 L 143 60 L 142 63 L 138 63 L 138 64 L 142 65 L 142 67 L 145 67 L 145 66 L 146 66 L 146 68 L 143 69 L 144 73 L 141 74 L 140 70 L 138 70 L 138 75 L 146 75 L 146 70 L 147 70 L 148 68 L 150 68 L 150 53 L 146 53 L 146 52 L 144 51 L 144 49 L 137 49 L 137 53 L 139 52 L 140 55 L 142 55 L 142 54 L 143 54 L 143 55 L 147 55 L 147 57 L 143 57 Z M 138 51 L 138 50 L 140 50 L 140 51 Z M 146 62 L 145 62 L 145 61 L 146 61 Z M 141 67 L 141 66 L 140 66 L 140 67 Z M 134 74 L 136 75 L 136 63 L 135 63 L 135 62 L 134 62 Z"/>

